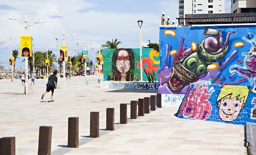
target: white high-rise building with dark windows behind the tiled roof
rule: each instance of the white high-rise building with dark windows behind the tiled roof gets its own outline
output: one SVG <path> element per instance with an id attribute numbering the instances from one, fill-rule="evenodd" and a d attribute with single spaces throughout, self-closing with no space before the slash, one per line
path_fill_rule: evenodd
<path id="1" fill-rule="evenodd" d="M 225 0 L 179 0 L 179 18 L 186 14 L 225 13 Z M 185 20 L 180 20 L 184 25 Z"/>

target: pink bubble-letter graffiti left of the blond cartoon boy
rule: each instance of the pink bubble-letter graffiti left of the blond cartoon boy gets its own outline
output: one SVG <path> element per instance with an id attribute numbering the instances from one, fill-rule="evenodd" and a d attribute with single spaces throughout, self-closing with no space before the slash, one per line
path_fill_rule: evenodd
<path id="1" fill-rule="evenodd" d="M 212 105 L 208 101 L 211 94 L 207 94 L 208 85 L 194 85 L 191 91 L 189 85 L 187 95 L 184 97 L 179 116 L 183 113 L 184 118 L 194 118 L 198 120 L 207 119 L 212 111 Z"/>

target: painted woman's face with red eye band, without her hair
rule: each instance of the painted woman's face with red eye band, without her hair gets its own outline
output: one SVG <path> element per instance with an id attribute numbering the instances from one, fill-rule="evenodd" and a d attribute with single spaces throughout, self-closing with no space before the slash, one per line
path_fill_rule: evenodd
<path id="1" fill-rule="evenodd" d="M 125 50 L 121 50 L 118 52 L 118 56 L 116 59 L 116 68 L 120 73 L 127 73 L 130 70 L 130 58 L 129 54 Z"/>

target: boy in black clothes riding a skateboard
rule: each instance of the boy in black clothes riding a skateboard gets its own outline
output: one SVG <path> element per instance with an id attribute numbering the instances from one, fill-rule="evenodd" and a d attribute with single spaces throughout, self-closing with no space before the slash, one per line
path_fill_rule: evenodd
<path id="1" fill-rule="evenodd" d="M 51 100 L 49 100 L 48 102 L 54 102 L 52 97 L 53 97 L 54 89 L 56 89 L 56 87 L 57 87 L 57 81 L 58 81 L 58 78 L 56 77 L 56 75 L 57 75 L 57 70 L 54 70 L 53 74 L 50 75 L 50 77 L 48 78 L 48 82 L 46 84 L 46 91 L 44 92 L 44 94 L 41 97 L 42 100 L 44 99 L 44 95 L 47 92 L 50 92 L 50 90 L 51 90 L 52 96 L 51 96 Z"/>

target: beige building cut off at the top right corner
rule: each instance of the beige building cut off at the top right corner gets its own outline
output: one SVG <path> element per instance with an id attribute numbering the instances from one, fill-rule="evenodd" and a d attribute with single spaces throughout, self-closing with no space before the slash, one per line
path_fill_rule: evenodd
<path id="1" fill-rule="evenodd" d="M 231 0 L 231 13 L 255 13 L 256 0 Z"/>

